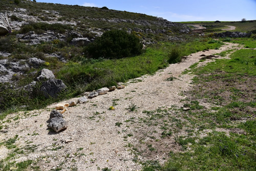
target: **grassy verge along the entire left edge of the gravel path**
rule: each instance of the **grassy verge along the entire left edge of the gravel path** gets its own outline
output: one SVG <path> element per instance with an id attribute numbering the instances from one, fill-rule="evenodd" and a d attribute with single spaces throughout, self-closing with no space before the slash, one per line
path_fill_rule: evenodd
<path id="1" fill-rule="evenodd" d="M 38 96 L 31 98 L 23 90 L 5 89 L 5 86 L 2 85 L 2 89 L 6 90 L 1 91 L 0 94 L 2 101 L 5 101 L 2 105 L 2 110 L 5 112 L 0 115 L 0 118 L 3 119 L 9 113 L 20 110 L 19 106 L 25 106 L 23 110 L 43 108 L 47 104 L 64 98 L 75 97 L 84 91 L 110 87 L 116 85 L 117 82 L 125 82 L 141 75 L 153 74 L 168 66 L 168 53 L 172 48 L 179 48 L 180 55 L 184 56 L 205 49 L 219 48 L 222 45 L 218 41 L 213 44 L 209 44 L 208 41 L 209 39 L 202 38 L 177 45 L 161 42 L 154 47 L 147 48 L 142 55 L 135 57 L 112 60 L 93 60 L 81 57 L 76 62 L 68 62 L 55 74 L 69 87 L 68 91 L 63 92 L 58 99 L 46 99 L 40 95 L 40 92 L 36 91 L 37 89 L 33 94 Z M 169 62 L 172 63 L 172 61 Z"/>

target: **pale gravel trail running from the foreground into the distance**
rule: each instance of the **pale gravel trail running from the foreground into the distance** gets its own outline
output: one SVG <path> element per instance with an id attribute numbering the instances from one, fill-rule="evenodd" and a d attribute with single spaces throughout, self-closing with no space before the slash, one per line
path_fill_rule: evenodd
<path id="1" fill-rule="evenodd" d="M 116 123 L 125 123 L 131 117 L 143 117 L 144 110 L 152 111 L 162 106 L 168 109 L 173 105 L 180 108 L 182 106 L 180 100 L 185 98 L 181 93 L 191 89 L 190 82 L 193 78 L 193 75 L 181 75 L 181 73 L 198 62 L 202 54 L 207 56 L 229 49 L 239 49 L 238 47 L 238 44 L 225 43 L 218 50 L 191 54 L 182 62 L 169 65 L 154 75 L 145 75 L 131 80 L 124 89 L 97 96 L 89 99 L 87 103 L 71 107 L 63 114 L 65 120 L 69 122 L 68 129 L 57 134 L 47 130 L 48 123 L 46 122 L 54 104 L 49 105 L 48 109 L 11 114 L 5 119 L 10 123 L 3 123 L 5 132 L 1 133 L 0 142 L 18 135 L 15 144 L 20 148 L 32 146 L 34 152 L 19 154 L 15 157 L 15 161 L 37 160 L 40 170 L 60 167 L 62 170 L 72 168 L 77 168 L 77 170 L 98 170 L 100 168 L 101 170 L 105 167 L 112 168 L 112 170 L 139 170 L 141 165 L 134 162 L 135 155 L 131 154 L 127 147 L 128 142 L 139 140 L 136 136 L 129 136 L 126 140 L 123 138 L 129 133 L 139 134 L 133 132 L 134 127 L 138 125 L 131 124 L 130 127 L 120 125 L 119 127 Z M 207 59 L 204 63 L 211 60 Z M 177 79 L 166 81 L 169 77 Z M 127 108 L 131 102 L 140 108 L 135 112 L 129 112 Z M 113 103 L 117 103 L 115 110 L 108 110 Z M 5 125 L 8 126 L 5 128 Z M 65 143 L 69 140 L 71 142 Z M 169 152 L 169 149 L 165 152 Z M 0 160 L 6 158 L 7 155 L 8 149 L 4 145 L 0 146 Z M 150 159 L 164 162 L 164 158 L 168 158 L 165 153 L 157 154 Z M 139 156 L 139 159 L 148 160 L 143 156 Z"/>

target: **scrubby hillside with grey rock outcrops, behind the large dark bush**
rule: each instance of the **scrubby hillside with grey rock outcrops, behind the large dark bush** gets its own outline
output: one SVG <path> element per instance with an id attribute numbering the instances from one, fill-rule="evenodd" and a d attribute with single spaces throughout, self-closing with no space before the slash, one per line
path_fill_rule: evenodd
<path id="1" fill-rule="evenodd" d="M 83 47 L 112 29 L 136 35 L 145 46 L 166 40 L 182 41 L 190 33 L 179 23 L 107 7 L 1 0 L 0 92 L 20 88 L 31 92 L 34 86 L 41 87 L 44 82 L 38 76 L 44 75 L 42 69 L 49 70 L 53 80 L 48 82 L 52 87 L 40 90 L 66 88 L 54 75 L 68 62 L 81 62 Z M 2 100 L 6 99 L 0 98 L 1 103 Z"/>

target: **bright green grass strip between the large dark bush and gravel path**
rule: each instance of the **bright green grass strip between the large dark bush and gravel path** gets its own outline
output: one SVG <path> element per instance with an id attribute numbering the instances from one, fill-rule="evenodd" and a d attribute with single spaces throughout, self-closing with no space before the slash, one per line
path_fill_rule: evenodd
<path id="1" fill-rule="evenodd" d="M 166 68 L 171 49 L 179 49 L 181 57 L 205 49 L 219 48 L 222 45 L 219 41 L 213 44 L 208 42 L 209 39 L 196 39 L 179 45 L 162 42 L 155 47 L 147 48 L 142 55 L 122 59 L 89 62 L 83 58 L 81 60 L 86 60 L 85 62 L 68 63 L 57 73 L 57 77 L 73 87 L 73 94 L 110 87 L 116 85 L 116 82 L 125 82 Z"/>

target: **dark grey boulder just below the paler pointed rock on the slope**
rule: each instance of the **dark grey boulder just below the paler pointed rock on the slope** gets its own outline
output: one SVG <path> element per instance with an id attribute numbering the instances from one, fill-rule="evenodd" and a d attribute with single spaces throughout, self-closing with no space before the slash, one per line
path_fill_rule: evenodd
<path id="1" fill-rule="evenodd" d="M 44 93 L 44 96 L 49 98 L 56 98 L 58 94 L 64 91 L 67 86 L 60 79 L 50 78 L 42 82 L 40 90 Z"/>

